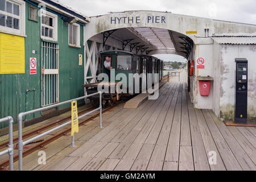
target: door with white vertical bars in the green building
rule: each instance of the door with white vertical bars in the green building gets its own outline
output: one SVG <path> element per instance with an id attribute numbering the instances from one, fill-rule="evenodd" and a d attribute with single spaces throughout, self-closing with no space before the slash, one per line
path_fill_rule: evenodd
<path id="1" fill-rule="evenodd" d="M 59 45 L 42 42 L 42 106 L 59 102 Z"/>

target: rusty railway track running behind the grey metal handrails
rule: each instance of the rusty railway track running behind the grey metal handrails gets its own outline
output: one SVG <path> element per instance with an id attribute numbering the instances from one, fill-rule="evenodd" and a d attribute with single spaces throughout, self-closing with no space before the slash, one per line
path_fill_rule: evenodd
<path id="1" fill-rule="evenodd" d="M 115 104 L 113 106 L 109 106 L 106 109 L 103 109 L 102 113 L 105 113 L 106 111 L 109 111 L 113 107 L 118 106 L 119 104 L 122 104 L 124 101 L 125 100 L 119 101 L 119 102 L 117 102 L 117 104 Z M 90 110 L 93 110 L 93 107 L 89 107 L 89 108 L 87 108 L 85 110 L 80 111 L 79 115 L 85 114 L 85 113 L 89 112 Z M 79 126 L 83 125 L 86 122 L 91 121 L 94 118 L 97 118 L 99 115 L 100 115 L 100 113 L 97 113 L 97 114 L 94 114 L 94 115 L 92 115 L 91 117 L 89 117 L 87 119 L 84 119 L 84 120 L 80 121 L 79 122 Z M 33 135 L 41 134 L 42 131 L 45 131 L 47 129 L 51 129 L 52 127 L 55 127 L 56 125 L 60 125 L 61 123 L 67 122 L 69 120 L 71 120 L 71 117 L 63 118 L 63 119 L 60 119 L 57 122 L 52 122 L 52 123 L 49 123 L 47 125 L 44 125 L 44 126 L 38 128 L 38 129 L 28 131 L 27 133 L 24 133 L 22 135 L 22 139 L 26 139 L 26 138 L 32 137 Z M 38 149 L 44 149 L 45 148 L 44 146 L 46 146 L 47 144 L 53 142 L 54 140 L 62 137 L 63 135 L 66 135 L 70 131 L 71 131 L 71 127 L 64 128 L 63 130 L 61 130 L 61 131 L 59 131 L 57 133 L 49 134 L 49 135 L 51 135 L 51 137 L 48 137 L 48 138 L 42 139 L 42 140 L 38 140 L 38 141 L 35 141 L 34 143 L 31 143 L 31 144 L 34 144 L 34 145 L 24 146 L 23 147 L 24 148 L 24 150 L 23 150 L 23 157 L 31 154 L 32 152 L 34 152 L 34 151 L 36 151 Z M 14 149 L 17 150 L 18 149 L 18 137 L 15 137 L 13 139 L 13 142 L 14 142 Z M 7 147 L 8 143 L 9 143 L 9 140 L 6 140 L 5 142 L 0 143 L 0 149 Z M 18 153 L 14 154 L 13 160 L 14 160 L 14 162 L 19 160 Z M 9 158 L 5 159 L 5 160 L 2 160 L 0 162 L 0 170 L 1 171 L 7 170 L 8 166 L 9 166 Z"/>

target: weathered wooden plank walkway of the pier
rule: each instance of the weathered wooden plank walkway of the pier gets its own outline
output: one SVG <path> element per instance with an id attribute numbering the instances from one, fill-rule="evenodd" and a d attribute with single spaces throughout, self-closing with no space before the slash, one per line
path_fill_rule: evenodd
<path id="1" fill-rule="evenodd" d="M 26 169 L 256 170 L 256 129 L 226 127 L 213 111 L 193 109 L 185 81 L 168 82 L 158 100 L 138 109 L 104 114 L 104 129 L 89 123 L 76 136 L 77 148 L 64 147 L 46 165 L 27 162 Z M 214 154 L 216 164 L 209 164 Z"/>

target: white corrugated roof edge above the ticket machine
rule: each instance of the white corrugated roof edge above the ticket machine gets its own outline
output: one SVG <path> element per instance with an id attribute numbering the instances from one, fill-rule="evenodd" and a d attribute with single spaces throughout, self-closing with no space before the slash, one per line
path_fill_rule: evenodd
<path id="1" fill-rule="evenodd" d="M 256 44 L 255 36 L 213 37 L 218 44 Z"/>

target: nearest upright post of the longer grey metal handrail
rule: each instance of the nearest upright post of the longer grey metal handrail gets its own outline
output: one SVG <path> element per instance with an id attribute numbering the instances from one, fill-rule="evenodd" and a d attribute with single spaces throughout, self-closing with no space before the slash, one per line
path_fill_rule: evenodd
<path id="1" fill-rule="evenodd" d="M 22 171 L 22 152 L 23 152 L 23 140 L 22 140 L 22 118 L 23 113 L 18 115 L 18 152 L 19 152 L 19 171 Z"/>

